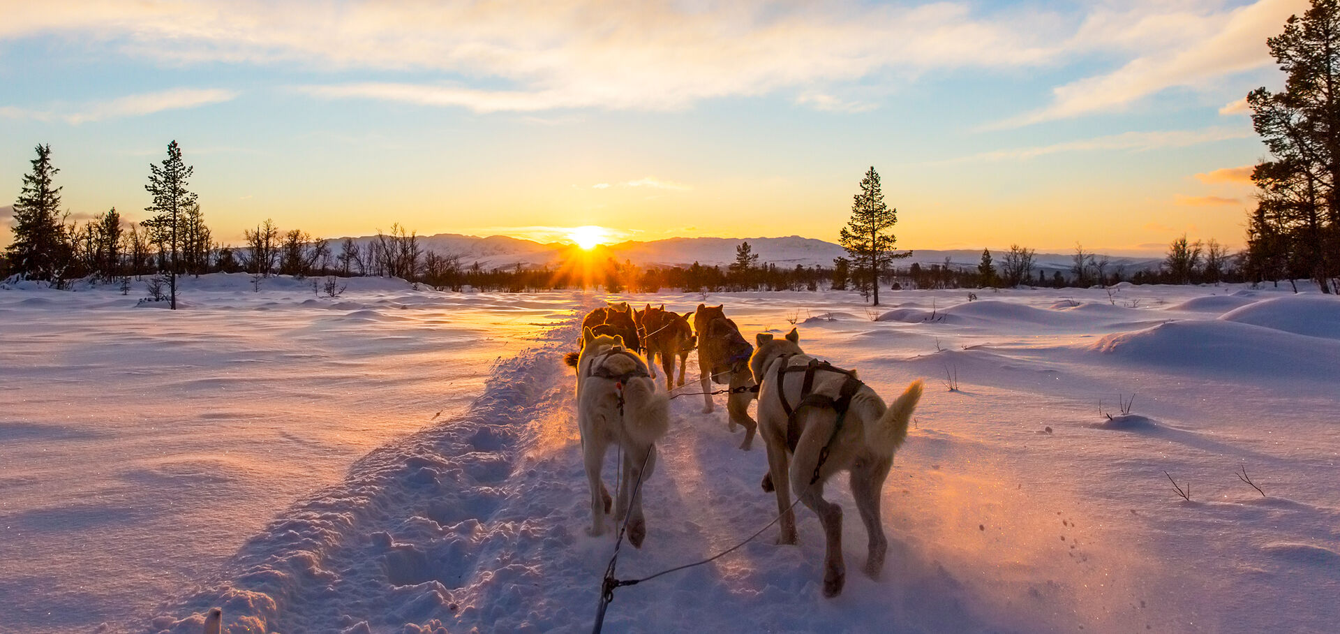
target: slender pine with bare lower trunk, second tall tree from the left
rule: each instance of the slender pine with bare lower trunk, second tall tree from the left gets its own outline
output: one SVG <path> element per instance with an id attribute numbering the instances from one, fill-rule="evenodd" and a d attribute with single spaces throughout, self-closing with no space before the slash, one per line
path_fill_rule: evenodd
<path id="1" fill-rule="evenodd" d="M 193 206 L 198 208 L 197 196 L 186 189 L 186 180 L 196 172 L 181 160 L 177 141 L 168 143 L 168 158 L 162 166 L 149 164 L 149 184 L 145 190 L 153 194 L 154 202 L 145 208 L 154 216 L 141 223 L 165 248 L 161 256 L 168 271 L 168 290 L 172 310 L 177 310 L 177 275 L 182 268 L 182 243 L 186 237 L 186 216 Z"/>

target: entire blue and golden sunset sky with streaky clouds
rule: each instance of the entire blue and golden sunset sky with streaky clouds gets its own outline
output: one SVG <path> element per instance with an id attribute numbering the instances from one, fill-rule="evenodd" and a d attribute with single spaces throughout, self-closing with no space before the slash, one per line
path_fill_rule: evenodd
<path id="1" fill-rule="evenodd" d="M 0 201 L 138 218 L 177 139 L 216 236 L 803 235 L 864 170 L 909 248 L 1242 241 L 1242 97 L 1302 0 L 0 0 Z"/>

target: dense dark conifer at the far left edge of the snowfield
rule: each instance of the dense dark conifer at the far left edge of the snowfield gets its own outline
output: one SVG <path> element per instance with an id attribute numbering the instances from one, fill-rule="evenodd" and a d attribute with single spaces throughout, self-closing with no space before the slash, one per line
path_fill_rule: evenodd
<path id="1" fill-rule="evenodd" d="M 23 177 L 23 189 L 13 202 L 13 243 L 7 255 L 15 273 L 59 284 L 74 256 L 60 216 L 60 188 L 52 186 L 52 176 L 60 170 L 51 165 L 50 145 L 35 150 L 32 173 Z"/>

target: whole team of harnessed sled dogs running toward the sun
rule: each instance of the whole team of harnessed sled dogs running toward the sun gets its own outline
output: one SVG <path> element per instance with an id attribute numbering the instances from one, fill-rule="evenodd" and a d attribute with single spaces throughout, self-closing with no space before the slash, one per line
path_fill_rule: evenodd
<path id="1" fill-rule="evenodd" d="M 879 515 L 880 492 L 894 452 L 907 437 L 922 382 L 914 381 L 892 405 L 884 405 L 855 370 L 842 370 L 805 354 L 796 328 L 781 339 L 761 332 L 752 346 L 722 306 L 698 304 L 691 312 L 691 331 L 689 316 L 666 311 L 663 304 L 638 311 L 619 303 L 596 308 L 582 320 L 580 351 L 570 353 L 565 361 L 578 375 L 578 426 L 591 485 L 591 535 L 604 532 L 604 516 L 611 511 L 600 466 L 606 450 L 616 445 L 623 460 L 612 515 L 615 521 L 626 521 L 632 546 L 641 547 L 646 539 L 639 484 L 655 469 L 655 441 L 670 426 L 669 393 L 683 386 L 689 351 L 697 347 L 704 413 L 713 410 L 712 394 L 706 394 L 712 391 L 709 382 L 725 385 L 730 430 L 737 425 L 745 429 L 740 448 L 749 449 L 756 432 L 762 436 L 768 450 L 762 489 L 776 493 L 781 516 L 777 543 L 796 543 L 791 501 L 795 493 L 824 528 L 824 595 L 842 592 L 843 512 L 824 499 L 823 489 L 829 477 L 846 470 L 870 539 L 864 572 L 878 578 L 887 550 Z M 658 357 L 665 390 L 657 389 Z M 673 381 L 675 358 L 677 382 Z M 754 398 L 757 422 L 748 410 Z"/>

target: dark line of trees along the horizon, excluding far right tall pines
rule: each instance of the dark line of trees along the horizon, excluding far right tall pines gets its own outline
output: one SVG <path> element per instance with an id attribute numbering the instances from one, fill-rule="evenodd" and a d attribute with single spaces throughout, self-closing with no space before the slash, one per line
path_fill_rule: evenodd
<path id="1" fill-rule="evenodd" d="M 977 265 L 949 261 L 894 267 L 894 239 L 887 231 L 896 221 L 883 204 L 879 174 L 871 168 L 854 202 L 852 223 L 843 229 L 851 259 L 839 257 L 832 267 L 779 265 L 760 263 L 758 253 L 745 241 L 736 248 L 736 260 L 726 267 L 694 263 L 685 267 L 638 267 L 628 260 L 582 251 L 574 247 L 557 265 L 486 267 L 466 264 L 461 255 L 423 248 L 418 233 L 399 224 L 377 231 L 371 239 L 343 239 L 338 245 L 302 229 L 280 229 L 273 220 L 244 232 L 241 245 L 213 241 L 201 205 L 186 185 L 193 169 L 182 162 L 177 142 L 168 146 L 168 158 L 150 165 L 145 189 L 153 196 L 146 208 L 153 213 L 142 223 L 126 223 L 115 208 L 94 218 L 70 223 L 60 210 L 60 188 L 54 176 L 51 147 L 39 145 L 32 170 L 23 177 L 23 190 L 15 201 L 13 243 L 0 257 L 0 277 L 19 276 L 46 280 L 54 287 L 86 279 L 92 283 L 119 283 L 129 292 L 131 279 L 150 277 L 154 299 L 176 296 L 180 275 L 248 273 L 260 281 L 272 275 L 297 279 L 308 276 L 401 277 L 442 291 L 508 291 L 603 288 L 610 292 L 738 292 L 738 291 L 817 291 L 851 290 L 866 299 L 878 298 L 879 288 L 981 288 L 981 287 L 1091 287 L 1132 283 L 1219 283 L 1240 281 L 1244 275 L 1260 275 L 1260 268 L 1244 269 L 1240 260 L 1256 256 L 1229 256 L 1215 240 L 1174 240 L 1158 271 L 1126 271 L 1076 245 L 1068 271 L 1052 267 L 1048 273 L 1036 261 L 1033 249 L 1010 245 L 993 255 L 982 251 Z M 1261 277 L 1254 277 L 1261 279 Z M 1268 277 L 1269 279 L 1269 277 Z M 162 291 L 166 290 L 166 294 Z"/>

